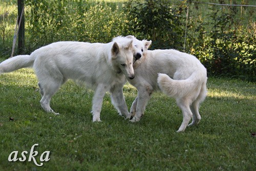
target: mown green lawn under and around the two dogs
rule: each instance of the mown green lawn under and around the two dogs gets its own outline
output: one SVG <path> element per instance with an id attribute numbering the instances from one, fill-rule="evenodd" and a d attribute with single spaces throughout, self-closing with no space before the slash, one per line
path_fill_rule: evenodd
<path id="1" fill-rule="evenodd" d="M 93 91 L 67 82 L 51 101 L 60 113 L 54 116 L 40 107 L 33 70 L 1 75 L 0 170 L 255 169 L 255 83 L 209 78 L 207 87 L 200 124 L 176 133 L 181 112 L 175 100 L 162 93 L 153 94 L 138 123 L 118 116 L 106 94 L 102 122 L 93 123 Z M 136 89 L 125 84 L 124 94 L 130 108 Z M 51 152 L 43 166 L 28 159 L 8 162 L 11 152 L 20 156 L 35 143 L 39 155 Z"/>

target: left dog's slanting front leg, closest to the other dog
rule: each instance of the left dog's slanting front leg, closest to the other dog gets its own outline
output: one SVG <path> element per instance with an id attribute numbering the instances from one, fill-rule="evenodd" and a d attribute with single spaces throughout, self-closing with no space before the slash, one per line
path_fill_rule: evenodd
<path id="1" fill-rule="evenodd" d="M 119 115 L 127 118 L 129 116 L 128 108 L 123 97 L 123 86 L 118 85 L 113 87 L 111 90 L 111 100 Z"/>

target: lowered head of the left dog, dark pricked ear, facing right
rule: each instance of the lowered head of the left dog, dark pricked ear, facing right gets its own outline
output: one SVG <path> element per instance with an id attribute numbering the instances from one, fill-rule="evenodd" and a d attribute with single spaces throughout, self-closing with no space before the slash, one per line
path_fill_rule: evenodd
<path id="1" fill-rule="evenodd" d="M 111 65 L 117 73 L 123 73 L 126 78 L 133 79 L 133 58 L 136 49 L 133 46 L 133 40 L 124 37 L 116 37 L 111 49 Z"/>

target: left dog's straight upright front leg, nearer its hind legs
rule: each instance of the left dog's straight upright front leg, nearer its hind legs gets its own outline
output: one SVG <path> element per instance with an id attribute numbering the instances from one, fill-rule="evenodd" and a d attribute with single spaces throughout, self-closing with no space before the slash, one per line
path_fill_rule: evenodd
<path id="1" fill-rule="evenodd" d="M 100 112 L 101 112 L 103 97 L 104 97 L 106 91 L 108 91 L 108 86 L 106 86 L 104 84 L 98 84 L 98 87 L 93 96 L 93 108 L 92 108 L 93 122 L 101 121 L 100 120 Z"/>

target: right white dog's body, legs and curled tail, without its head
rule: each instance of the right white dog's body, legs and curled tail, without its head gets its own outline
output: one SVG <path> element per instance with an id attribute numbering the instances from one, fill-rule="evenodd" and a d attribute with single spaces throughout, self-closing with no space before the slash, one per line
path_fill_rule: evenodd
<path id="1" fill-rule="evenodd" d="M 160 88 L 176 98 L 182 110 L 183 122 L 177 132 L 185 131 L 192 116 L 189 125 L 199 123 L 199 103 L 206 97 L 207 73 L 195 56 L 177 50 L 148 50 L 134 63 L 134 72 L 136 77 L 129 82 L 137 88 L 138 96 L 130 110 L 132 122 L 140 120 L 151 94 Z"/>

